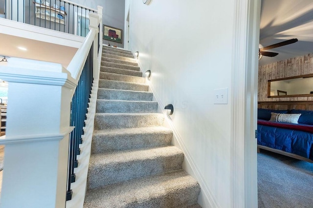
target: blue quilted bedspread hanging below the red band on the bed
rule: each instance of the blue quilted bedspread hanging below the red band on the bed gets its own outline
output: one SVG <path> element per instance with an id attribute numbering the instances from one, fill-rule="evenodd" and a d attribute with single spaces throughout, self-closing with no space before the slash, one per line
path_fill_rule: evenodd
<path id="1" fill-rule="evenodd" d="M 258 145 L 313 160 L 313 133 L 258 124 Z"/>

